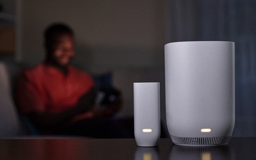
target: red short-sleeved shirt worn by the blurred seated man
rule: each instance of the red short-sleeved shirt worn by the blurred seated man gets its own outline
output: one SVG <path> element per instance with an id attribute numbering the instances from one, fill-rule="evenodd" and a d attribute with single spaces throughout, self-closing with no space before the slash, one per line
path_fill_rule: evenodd
<path id="1" fill-rule="evenodd" d="M 63 74 L 45 63 L 25 70 L 18 80 L 18 104 L 22 114 L 61 112 L 76 106 L 94 86 L 92 78 L 72 66 Z"/>

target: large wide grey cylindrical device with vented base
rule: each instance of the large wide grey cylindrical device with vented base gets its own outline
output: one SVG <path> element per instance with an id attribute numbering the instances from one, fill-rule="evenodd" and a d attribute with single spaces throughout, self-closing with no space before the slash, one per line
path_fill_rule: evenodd
<path id="1" fill-rule="evenodd" d="M 227 144 L 235 125 L 235 44 L 165 45 L 167 127 L 174 144 Z"/>

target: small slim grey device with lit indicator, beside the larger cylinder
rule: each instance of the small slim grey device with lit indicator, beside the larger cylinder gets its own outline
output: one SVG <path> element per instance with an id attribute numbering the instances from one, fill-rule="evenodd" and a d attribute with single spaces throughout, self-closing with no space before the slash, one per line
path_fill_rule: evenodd
<path id="1" fill-rule="evenodd" d="M 134 136 L 137 146 L 157 146 L 160 138 L 160 84 L 133 83 Z"/>

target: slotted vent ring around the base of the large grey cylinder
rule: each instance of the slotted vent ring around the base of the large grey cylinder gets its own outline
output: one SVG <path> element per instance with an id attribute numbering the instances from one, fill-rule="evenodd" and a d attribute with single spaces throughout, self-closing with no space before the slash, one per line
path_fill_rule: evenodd
<path id="1" fill-rule="evenodd" d="M 172 142 L 181 146 L 219 146 L 227 144 L 230 137 L 176 137 L 171 136 Z"/>

